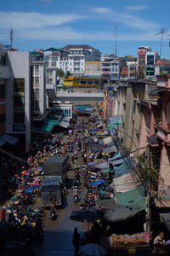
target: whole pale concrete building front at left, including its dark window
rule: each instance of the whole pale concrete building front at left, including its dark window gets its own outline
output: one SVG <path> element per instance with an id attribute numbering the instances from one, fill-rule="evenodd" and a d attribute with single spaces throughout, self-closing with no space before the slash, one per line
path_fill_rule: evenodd
<path id="1" fill-rule="evenodd" d="M 31 53 L 8 51 L 7 54 L 10 78 L 6 86 L 6 132 L 26 135 L 27 151 L 31 143 Z M 18 87 L 14 85 L 17 83 Z M 18 109 L 17 104 L 14 107 L 15 100 L 20 103 L 21 107 Z M 24 117 L 22 120 L 20 119 L 20 109 Z"/>

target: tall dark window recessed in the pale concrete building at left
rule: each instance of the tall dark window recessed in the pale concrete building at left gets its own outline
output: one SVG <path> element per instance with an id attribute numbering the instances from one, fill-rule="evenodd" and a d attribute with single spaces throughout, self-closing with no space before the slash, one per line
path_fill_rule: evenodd
<path id="1" fill-rule="evenodd" d="M 25 79 L 14 79 L 14 123 L 25 123 Z"/>

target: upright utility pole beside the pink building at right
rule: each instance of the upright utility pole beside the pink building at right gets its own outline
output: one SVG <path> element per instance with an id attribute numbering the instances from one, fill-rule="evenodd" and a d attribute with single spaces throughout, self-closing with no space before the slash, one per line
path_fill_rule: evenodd
<path id="1" fill-rule="evenodd" d="M 150 145 L 147 145 L 147 197 L 146 197 L 146 232 L 150 234 L 150 221 L 151 221 L 151 212 L 150 212 Z"/>

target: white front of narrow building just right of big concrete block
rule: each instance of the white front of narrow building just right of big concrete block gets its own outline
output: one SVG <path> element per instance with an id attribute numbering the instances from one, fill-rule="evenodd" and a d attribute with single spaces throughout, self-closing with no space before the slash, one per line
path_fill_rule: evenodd
<path id="1" fill-rule="evenodd" d="M 33 113 L 43 114 L 46 111 L 45 101 L 45 61 L 33 61 L 32 62 L 32 74 L 33 74 L 33 90 L 34 90 L 34 107 Z"/>

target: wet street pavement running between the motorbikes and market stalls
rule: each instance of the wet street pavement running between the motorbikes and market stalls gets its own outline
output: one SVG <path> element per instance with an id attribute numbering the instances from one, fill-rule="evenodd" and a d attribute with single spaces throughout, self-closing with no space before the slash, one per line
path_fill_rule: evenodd
<path id="1" fill-rule="evenodd" d="M 82 133 L 78 133 L 79 137 L 82 137 Z M 73 136 L 74 137 L 74 136 Z M 64 137 L 64 143 L 67 141 L 67 137 Z M 77 148 L 77 146 L 76 146 Z M 71 153 L 69 153 L 71 154 Z M 79 151 L 77 151 L 78 159 L 76 164 L 82 166 L 82 156 Z M 74 167 L 74 166 L 72 166 Z M 69 183 L 72 183 L 75 178 L 75 171 L 68 172 Z M 82 174 L 81 174 L 82 180 Z M 72 189 L 69 189 L 68 195 L 66 195 L 64 200 L 64 206 L 59 209 L 57 220 L 51 220 L 47 215 L 44 218 L 44 236 L 41 242 L 36 242 L 34 246 L 34 252 L 37 256 L 73 256 L 74 246 L 72 245 L 72 236 L 75 227 L 77 227 L 78 232 L 86 231 L 87 225 L 82 222 L 73 221 L 69 218 L 71 211 L 79 210 L 81 200 L 85 197 L 86 189 L 83 187 L 83 183 L 79 189 L 79 202 L 73 201 Z M 39 199 L 41 201 L 41 198 Z M 82 201 L 83 202 L 83 201 Z M 41 202 L 39 202 L 41 204 Z"/>

